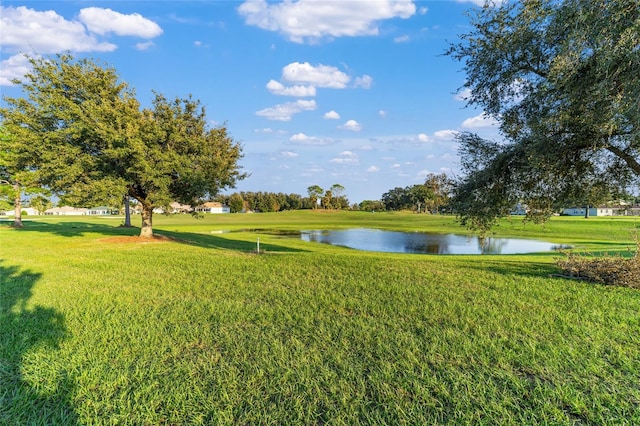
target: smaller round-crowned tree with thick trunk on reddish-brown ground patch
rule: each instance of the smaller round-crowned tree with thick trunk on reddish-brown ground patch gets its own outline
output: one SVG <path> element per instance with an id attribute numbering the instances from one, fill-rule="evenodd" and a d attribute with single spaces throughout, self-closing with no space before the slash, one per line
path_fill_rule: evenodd
<path id="1" fill-rule="evenodd" d="M 195 204 L 245 177 L 239 143 L 226 125 L 209 128 L 204 107 L 190 97 L 170 101 L 156 94 L 153 108 L 142 111 L 137 135 L 128 144 L 121 175 L 142 207 L 141 236 L 152 234 L 155 207 Z"/>

